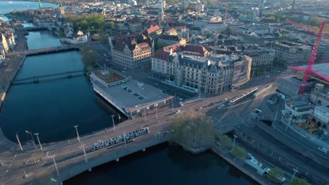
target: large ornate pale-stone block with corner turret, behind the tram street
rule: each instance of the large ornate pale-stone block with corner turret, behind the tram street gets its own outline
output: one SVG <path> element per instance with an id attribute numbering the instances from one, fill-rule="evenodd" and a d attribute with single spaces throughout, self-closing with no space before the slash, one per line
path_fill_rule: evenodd
<path id="1" fill-rule="evenodd" d="M 250 79 L 250 67 L 250 57 L 210 56 L 202 46 L 167 46 L 152 57 L 152 70 L 167 79 L 164 83 L 212 95 L 245 84 Z"/>

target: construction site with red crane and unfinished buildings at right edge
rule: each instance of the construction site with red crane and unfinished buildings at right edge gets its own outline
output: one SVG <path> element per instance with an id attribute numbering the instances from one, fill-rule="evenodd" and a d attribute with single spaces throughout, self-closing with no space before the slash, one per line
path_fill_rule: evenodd
<path id="1" fill-rule="evenodd" d="M 296 27 L 302 27 L 291 22 Z M 286 125 L 309 139 L 323 153 L 329 149 L 329 63 L 314 64 L 322 37 L 324 22 L 312 48 L 307 66 L 290 67 L 276 83 L 276 94 L 284 105 L 278 123 Z M 307 30 L 309 31 L 309 30 Z"/>

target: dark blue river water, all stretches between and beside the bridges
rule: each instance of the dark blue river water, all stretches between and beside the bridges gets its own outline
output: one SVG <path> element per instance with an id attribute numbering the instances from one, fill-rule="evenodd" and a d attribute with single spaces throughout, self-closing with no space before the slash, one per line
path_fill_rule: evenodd
<path id="1" fill-rule="evenodd" d="M 0 4 L 0 10 L 1 4 Z M 47 32 L 30 32 L 30 49 L 59 46 Z M 27 57 L 15 79 L 83 69 L 76 51 Z M 86 76 L 60 78 L 12 85 L 0 112 L 4 135 L 15 141 L 29 136 L 25 130 L 39 132 L 41 142 L 53 142 L 79 133 L 110 127 L 116 114 L 95 95 Z M 255 184 L 235 167 L 212 152 L 193 155 L 178 146 L 161 144 L 93 168 L 64 184 Z"/>

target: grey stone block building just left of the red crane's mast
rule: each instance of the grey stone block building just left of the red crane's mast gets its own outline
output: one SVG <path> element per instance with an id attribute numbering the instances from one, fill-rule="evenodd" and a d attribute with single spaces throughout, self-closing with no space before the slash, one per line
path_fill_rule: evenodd
<path id="1" fill-rule="evenodd" d="M 309 62 L 311 47 L 290 41 L 276 41 L 271 44 L 275 50 L 274 64 L 281 67 L 304 65 Z"/>

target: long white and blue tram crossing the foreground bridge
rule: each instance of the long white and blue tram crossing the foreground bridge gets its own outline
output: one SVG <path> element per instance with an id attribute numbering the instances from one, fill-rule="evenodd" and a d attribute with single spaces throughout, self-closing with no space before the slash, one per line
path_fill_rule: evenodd
<path id="1" fill-rule="evenodd" d="M 135 137 L 139 137 L 141 135 L 146 135 L 150 132 L 150 129 L 148 127 L 143 127 L 138 130 L 135 130 L 134 132 L 129 132 L 123 135 L 115 136 L 110 139 L 98 141 L 91 145 L 91 151 L 96 151 L 103 149 L 108 146 L 113 146 L 115 144 L 119 144 L 122 142 L 132 142 L 134 141 Z"/>

